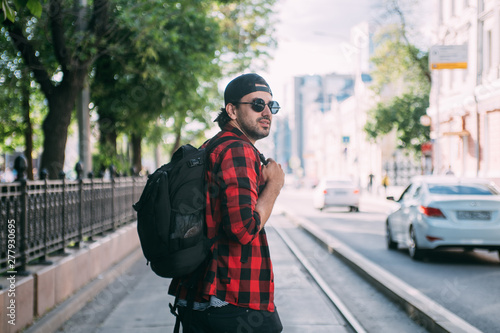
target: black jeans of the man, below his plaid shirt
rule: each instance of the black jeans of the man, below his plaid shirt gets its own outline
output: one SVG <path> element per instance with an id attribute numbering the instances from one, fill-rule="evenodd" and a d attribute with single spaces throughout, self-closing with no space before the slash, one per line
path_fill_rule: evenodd
<path id="1" fill-rule="evenodd" d="M 283 330 L 278 312 L 257 311 L 232 304 L 205 311 L 192 311 L 190 324 L 184 307 L 179 307 L 183 333 L 279 333 Z M 189 326 L 190 330 L 185 331 Z"/>

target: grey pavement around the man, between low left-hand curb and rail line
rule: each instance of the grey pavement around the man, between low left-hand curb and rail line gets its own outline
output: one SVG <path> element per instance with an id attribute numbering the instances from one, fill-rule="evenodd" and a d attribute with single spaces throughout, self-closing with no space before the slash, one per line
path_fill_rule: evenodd
<path id="1" fill-rule="evenodd" d="M 274 214 L 270 225 L 286 226 L 289 222 L 285 217 Z M 284 326 L 283 332 L 348 332 L 276 231 L 266 228 L 266 232 L 275 273 L 275 303 Z M 58 332 L 172 332 L 175 318 L 168 304 L 173 302 L 173 297 L 167 295 L 170 280 L 156 276 L 142 259 L 132 267 L 134 271 L 101 292 Z M 112 298 L 120 293 L 123 297 L 113 301 Z M 257 333 L 250 324 L 242 326 L 241 332 Z M 37 332 L 36 327 L 31 330 Z"/>

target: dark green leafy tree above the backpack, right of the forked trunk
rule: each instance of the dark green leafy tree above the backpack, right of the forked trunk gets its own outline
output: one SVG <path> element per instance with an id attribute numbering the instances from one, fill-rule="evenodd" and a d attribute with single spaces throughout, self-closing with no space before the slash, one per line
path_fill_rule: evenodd
<path id="1" fill-rule="evenodd" d="M 160 116 L 169 118 L 193 108 L 200 96 L 206 96 L 202 80 L 218 73 L 214 57 L 219 31 L 211 18 L 212 4 L 151 4 L 126 15 L 114 13 L 118 33 L 128 38 L 119 50 L 96 61 L 91 89 L 99 114 L 101 152 L 114 156 L 118 134 L 126 133 L 133 141 L 136 170 L 141 167 L 140 142 L 150 124 Z M 124 2 L 121 7 L 129 5 Z M 152 23 L 137 25 L 145 20 L 142 17 Z"/>

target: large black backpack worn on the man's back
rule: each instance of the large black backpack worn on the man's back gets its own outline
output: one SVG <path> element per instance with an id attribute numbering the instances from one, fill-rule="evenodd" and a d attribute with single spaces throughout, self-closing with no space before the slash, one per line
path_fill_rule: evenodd
<path id="1" fill-rule="evenodd" d="M 207 258 L 214 240 L 206 236 L 205 207 L 208 155 L 226 136 L 206 148 L 180 147 L 170 163 L 148 177 L 137 211 L 137 232 L 151 269 L 165 278 L 182 277 Z M 212 142 L 213 141 L 213 142 Z"/>

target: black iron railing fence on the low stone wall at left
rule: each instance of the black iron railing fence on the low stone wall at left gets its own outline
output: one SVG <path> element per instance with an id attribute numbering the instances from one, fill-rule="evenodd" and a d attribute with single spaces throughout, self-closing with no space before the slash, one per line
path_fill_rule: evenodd
<path id="1" fill-rule="evenodd" d="M 79 246 L 136 218 L 145 177 L 0 183 L 0 273 Z"/>

